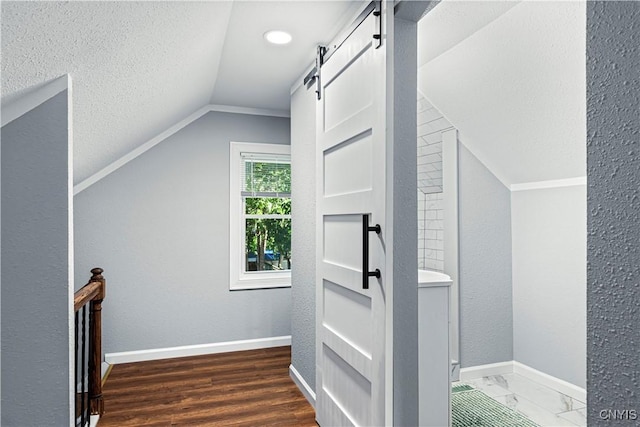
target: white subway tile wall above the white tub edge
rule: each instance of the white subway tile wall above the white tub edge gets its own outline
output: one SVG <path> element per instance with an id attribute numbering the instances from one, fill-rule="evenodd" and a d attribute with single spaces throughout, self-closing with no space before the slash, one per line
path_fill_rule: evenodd
<path id="1" fill-rule="evenodd" d="M 444 270 L 442 132 L 451 123 L 418 94 L 418 268 Z"/>

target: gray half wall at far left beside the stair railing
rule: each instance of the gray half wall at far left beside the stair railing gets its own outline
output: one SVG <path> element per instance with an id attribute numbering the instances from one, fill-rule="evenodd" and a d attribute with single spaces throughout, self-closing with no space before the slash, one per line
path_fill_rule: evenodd
<path id="1" fill-rule="evenodd" d="M 2 128 L 2 425 L 70 424 L 67 91 Z"/>

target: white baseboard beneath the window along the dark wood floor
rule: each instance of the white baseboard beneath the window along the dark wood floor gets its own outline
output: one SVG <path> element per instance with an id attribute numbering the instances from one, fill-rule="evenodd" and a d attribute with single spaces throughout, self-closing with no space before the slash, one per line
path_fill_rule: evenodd
<path id="1" fill-rule="evenodd" d="M 185 345 L 181 347 L 124 351 L 120 353 L 107 353 L 104 355 L 104 360 L 111 365 L 117 365 L 119 363 L 144 362 L 148 360 L 173 359 L 176 357 L 201 356 L 204 354 L 228 353 L 230 351 L 257 350 L 260 348 L 281 347 L 285 345 L 291 345 L 291 335 L 282 337 L 258 338 L 253 340 Z"/>

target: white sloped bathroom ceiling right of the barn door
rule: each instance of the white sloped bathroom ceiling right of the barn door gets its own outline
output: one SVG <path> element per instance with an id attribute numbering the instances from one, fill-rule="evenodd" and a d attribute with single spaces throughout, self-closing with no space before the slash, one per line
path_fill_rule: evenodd
<path id="1" fill-rule="evenodd" d="M 436 6 L 420 23 L 419 89 L 506 185 L 585 176 L 584 2 L 511 6 Z"/>

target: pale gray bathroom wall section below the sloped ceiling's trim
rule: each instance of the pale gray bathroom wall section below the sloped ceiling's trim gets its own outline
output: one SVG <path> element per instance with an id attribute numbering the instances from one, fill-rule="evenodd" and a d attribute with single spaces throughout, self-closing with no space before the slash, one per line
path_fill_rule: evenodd
<path id="1" fill-rule="evenodd" d="M 513 355 L 586 387 L 585 186 L 511 193 Z"/>

